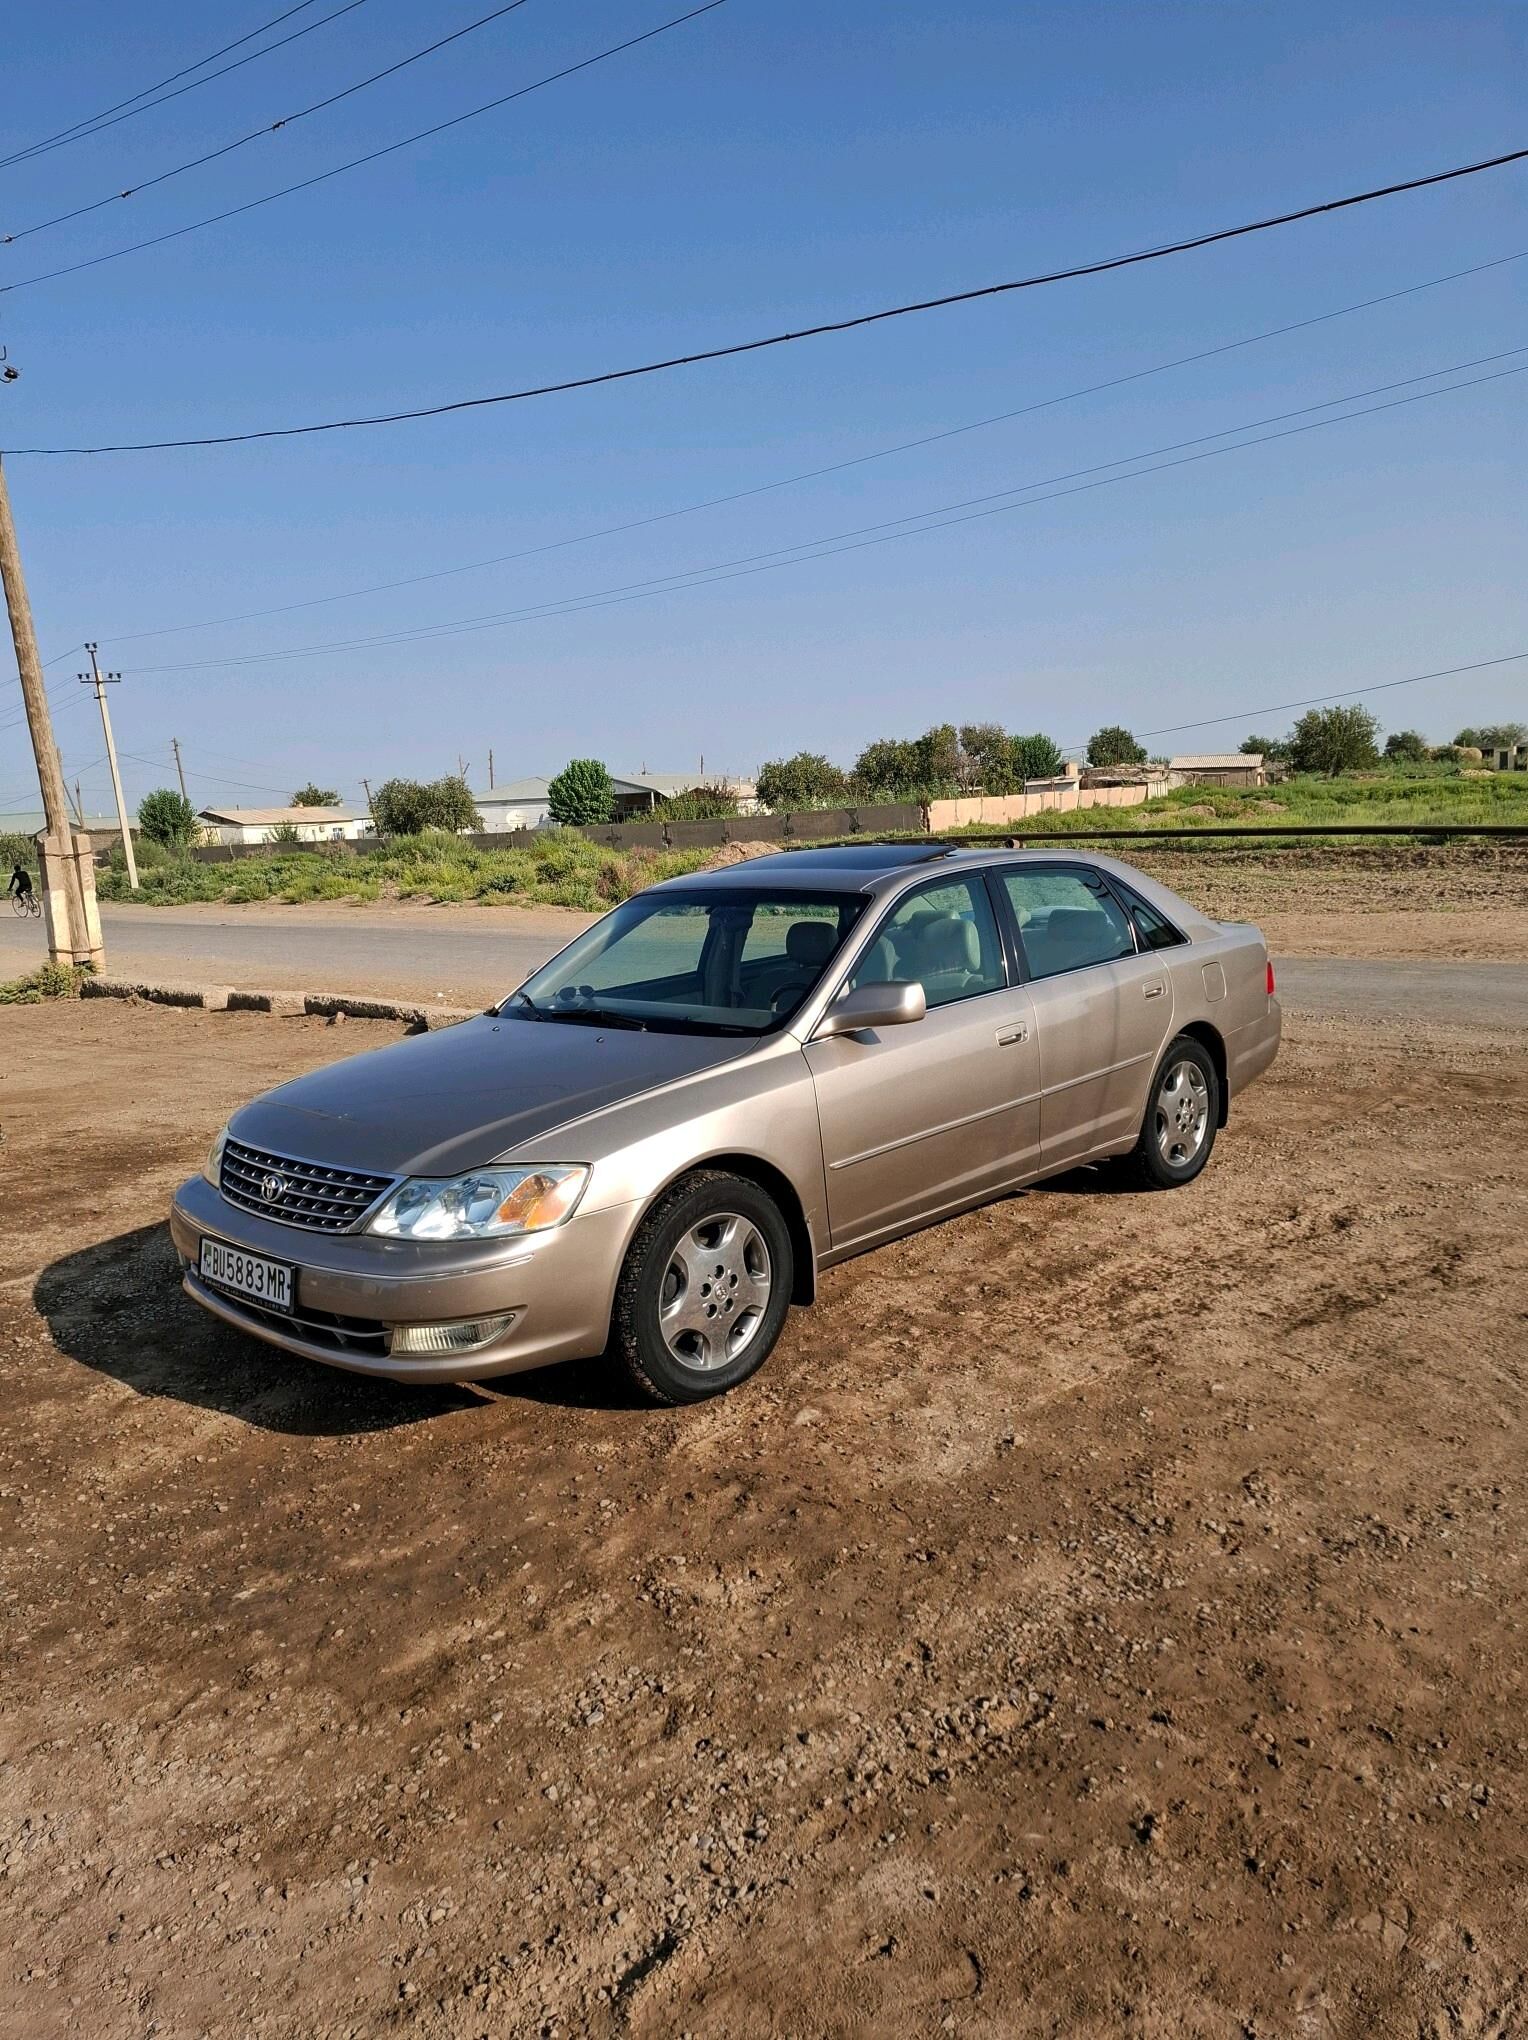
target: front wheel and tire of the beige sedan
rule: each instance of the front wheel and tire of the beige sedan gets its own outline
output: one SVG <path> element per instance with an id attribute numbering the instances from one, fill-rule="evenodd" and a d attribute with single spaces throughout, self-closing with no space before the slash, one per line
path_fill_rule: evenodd
<path id="1" fill-rule="evenodd" d="M 747 1177 L 696 1169 L 626 1255 L 610 1348 L 655 1404 L 724 1395 L 769 1359 L 796 1285 L 790 1226 Z"/>

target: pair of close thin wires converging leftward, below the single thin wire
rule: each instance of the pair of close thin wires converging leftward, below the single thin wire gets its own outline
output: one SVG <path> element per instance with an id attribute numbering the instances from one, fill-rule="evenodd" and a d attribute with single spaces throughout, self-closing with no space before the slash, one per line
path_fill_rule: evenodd
<path id="1" fill-rule="evenodd" d="M 1522 353 L 1522 351 L 1524 349 L 1512 349 L 1512 353 Z M 1481 359 L 1483 361 L 1495 361 L 1495 359 L 1501 359 L 1501 357 L 1499 355 L 1485 355 Z M 1459 363 L 1461 369 L 1463 367 L 1473 367 L 1473 365 L 1475 363 Z M 1450 369 L 1432 369 L 1430 373 L 1432 375 L 1446 375 L 1446 373 L 1453 373 L 1453 371 Z M 467 618 L 457 618 L 453 622 L 422 624 L 422 626 L 416 626 L 412 630 L 396 630 L 396 632 L 386 632 L 386 634 L 365 636 L 365 639 L 345 639 L 345 641 L 326 643 L 326 645 L 296 645 L 296 647 L 288 647 L 284 651 L 273 651 L 273 653 L 241 653 L 241 655 L 235 655 L 235 657 L 228 657 L 228 659 L 190 659 L 190 661 L 180 661 L 180 663 L 173 663 L 173 665 L 143 665 L 143 667 L 135 667 L 135 671 L 139 671 L 139 673 L 202 673 L 202 671 L 220 669 L 220 667 L 269 665 L 269 663 L 277 663 L 277 661 L 286 661 L 286 659 L 310 659 L 310 657 L 320 657 L 320 655 L 326 655 L 326 653 L 371 651 L 371 649 L 375 649 L 379 645 L 416 645 L 416 643 L 422 643 L 422 641 L 443 639 L 443 636 L 467 636 L 467 634 L 475 634 L 479 630 L 494 630 L 494 628 L 502 628 L 504 624 L 514 624 L 514 622 L 539 622 L 539 620 L 547 620 L 551 616 L 571 616 L 571 614 L 577 614 L 581 610 L 612 608 L 612 606 L 622 604 L 622 602 L 639 602 L 643 598 L 657 596 L 657 594 L 683 594 L 683 592 L 694 590 L 694 588 L 712 588 L 716 581 L 743 579 L 743 577 L 749 577 L 749 575 L 755 575 L 755 573 L 771 573 L 771 571 L 777 571 L 779 567 L 800 567 L 800 565 L 806 565 L 812 559 L 830 559 L 836 553 L 857 553 L 857 551 L 865 551 L 867 547 L 873 547 L 873 545 L 889 545 L 896 539 L 920 539 L 920 537 L 924 537 L 926 532 L 932 532 L 932 530 L 947 530 L 951 524 L 969 524 L 969 522 L 975 522 L 979 518 L 1000 516 L 1000 514 L 1004 514 L 1008 510 L 1028 510 L 1036 502 L 1055 502 L 1061 496 L 1081 496 L 1081 494 L 1087 494 L 1091 490 L 1112 488 L 1114 483 L 1120 483 L 1120 481 L 1136 481 L 1136 479 L 1140 479 L 1140 475 L 1163 473 L 1165 469 L 1171 469 L 1171 467 L 1189 467 L 1189 465 L 1195 465 L 1198 461 L 1212 461 L 1212 459 L 1218 459 L 1220 455 L 1226 455 L 1226 453 L 1240 453 L 1244 447 L 1261 447 L 1261 445 L 1267 445 L 1267 443 L 1271 443 L 1275 439 L 1293 439 L 1293 437 L 1297 437 L 1302 432 L 1318 432 L 1318 430 L 1322 430 L 1326 426 L 1332 426 L 1332 424 L 1346 424 L 1353 418 L 1369 418 L 1375 412 L 1397 410 L 1397 408 L 1408 406 L 1408 404 L 1422 404 L 1428 398 L 1453 396 L 1457 390 L 1473 390 L 1479 384 L 1499 381 L 1504 375 L 1522 375 L 1522 373 L 1528 373 L 1528 363 L 1524 363 L 1520 367 L 1514 367 L 1514 369 L 1497 369 L 1491 375 L 1477 375 L 1477 377 L 1473 377 L 1469 381 L 1448 384 L 1442 390 L 1422 390 L 1422 392 L 1416 392 L 1414 396 L 1389 398 L 1383 404 L 1367 404 L 1361 410 L 1348 410 L 1348 412 L 1344 412 L 1342 416 L 1336 416 L 1336 418 L 1316 418 L 1316 420 L 1310 420 L 1306 424 L 1293 424 L 1293 426 L 1285 424 L 1281 430 L 1259 432 L 1257 439 L 1242 439 L 1242 441 L 1236 441 L 1236 445 L 1230 445 L 1230 447 L 1210 447 L 1208 451 L 1200 451 L 1200 453 L 1181 453 L 1181 451 L 1177 451 L 1177 449 L 1183 449 L 1183 447 L 1202 447 L 1206 439 L 1226 439 L 1232 432 L 1251 432 L 1257 426 L 1277 422 L 1275 418 L 1257 418 L 1257 420 L 1249 420 L 1244 424 L 1224 426 L 1220 432 L 1200 435 L 1200 439 L 1175 441 L 1169 447 L 1149 447 L 1149 449 L 1144 449 L 1140 453 L 1122 455 L 1120 459 L 1114 459 L 1114 461 L 1100 461 L 1093 467 L 1079 467 L 1079 469 L 1073 469 L 1071 473 L 1065 473 L 1065 475 L 1047 475 L 1047 477 L 1040 477 L 1036 481 L 1014 483 L 1012 488 L 998 490 L 998 492 L 994 492 L 989 496 L 971 496 L 971 498 L 965 498 L 963 502 L 938 504 L 938 506 L 934 506 L 930 510 L 916 510 L 916 512 L 912 512 L 908 516 L 902 516 L 902 518 L 887 518 L 881 524 L 859 524 L 853 530 L 826 532 L 826 534 L 820 534 L 816 539 L 802 539 L 796 545 L 779 547 L 779 549 L 775 549 L 771 553 L 751 553 L 751 555 L 745 555 L 741 559 L 712 561 L 712 563 L 706 563 L 706 565 L 700 565 L 700 567 L 685 567 L 685 569 L 681 569 L 677 573 L 653 575 L 653 577 L 649 577 L 645 581 L 626 581 L 626 583 L 616 585 L 616 588 L 592 590 L 592 592 L 585 592 L 585 594 L 579 594 L 579 596 L 565 596 L 565 598 L 557 598 L 557 600 L 551 600 L 551 602 L 530 604 L 530 606 L 520 608 L 520 610 L 506 610 L 506 612 L 492 614 L 492 616 L 467 616 Z M 1428 379 L 1428 377 L 1408 377 L 1408 381 L 1424 381 L 1424 379 Z M 1404 384 L 1381 384 L 1379 388 L 1381 390 L 1395 390 L 1395 388 L 1404 388 Z M 1297 418 L 1297 416 L 1306 416 L 1312 410 L 1330 410 L 1334 404 L 1357 404 L 1359 398 L 1373 396 L 1373 394 L 1377 394 L 1377 390 L 1359 390 L 1359 392 L 1353 392 L 1348 396 L 1328 398 L 1324 404 L 1308 404 L 1308 406 L 1302 406 L 1302 410 L 1279 412 L 1277 418 Z M 1155 455 L 1161 455 L 1161 453 L 1175 453 L 1175 459 L 1161 459 L 1161 461 L 1155 459 Z M 1140 461 L 1151 461 L 1151 465 L 1144 465 L 1144 467 L 1130 465 L 1130 463 L 1140 463 Z M 1102 469 L 1106 469 L 1106 467 L 1130 467 L 1130 471 L 1122 473 L 1122 475 L 1102 475 L 1102 479 L 1098 479 L 1100 473 L 1102 473 Z M 1081 479 L 1081 477 L 1093 477 L 1093 479 Z M 1071 483 L 1071 486 L 1067 486 L 1067 488 L 1053 488 L 1053 483 Z M 1045 490 L 1047 494 L 1040 494 L 1040 496 L 1032 494 L 1036 490 Z M 998 498 L 1014 498 L 1014 496 L 1020 496 L 1024 500 L 1022 502 L 1012 502 L 1012 500 L 1000 502 L 998 500 Z M 930 520 L 936 520 L 936 522 L 930 522 Z M 916 528 L 906 528 L 906 526 L 916 526 Z M 675 583 L 683 583 L 683 585 L 675 585 Z"/>

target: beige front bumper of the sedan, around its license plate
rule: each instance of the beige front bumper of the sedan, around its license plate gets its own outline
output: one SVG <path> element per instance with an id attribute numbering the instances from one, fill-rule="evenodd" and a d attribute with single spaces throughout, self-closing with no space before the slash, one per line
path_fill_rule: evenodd
<path id="1" fill-rule="evenodd" d="M 575 1212 L 549 1232 L 508 1240 L 384 1240 L 284 1226 L 241 1212 L 204 1177 L 192 1177 L 175 1191 L 169 1236 L 186 1293 L 253 1338 L 390 1381 L 486 1381 L 604 1350 L 634 1220 L 634 1208 L 622 1204 Z M 294 1267 L 292 1310 L 265 1310 L 204 1283 L 198 1275 L 204 1238 Z M 396 1326 L 506 1312 L 514 1312 L 514 1322 L 467 1353 L 388 1350 Z"/>

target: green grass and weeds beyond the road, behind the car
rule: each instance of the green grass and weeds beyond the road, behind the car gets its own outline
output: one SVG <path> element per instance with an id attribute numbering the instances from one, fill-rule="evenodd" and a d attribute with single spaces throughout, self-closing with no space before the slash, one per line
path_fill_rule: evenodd
<path id="1" fill-rule="evenodd" d="M 1389 822 L 1412 824 L 1420 834 L 1440 822 L 1522 822 L 1528 826 L 1528 775 L 1489 777 L 1375 775 L 1353 779 L 1291 779 L 1275 787 L 1179 787 L 1140 808 L 1083 808 L 1071 814 L 1030 816 L 1024 836 L 1077 834 L 1108 828 L 1142 836 L 1161 828 L 1210 828 L 1244 822 L 1271 828 L 1279 822 Z M 955 830 L 953 834 L 959 834 Z M 1271 836 L 1267 849 L 1310 845 Z M 1212 845 L 1206 843 L 1206 855 Z M 459 836 L 428 834 L 390 843 L 359 855 L 318 857 L 310 851 L 271 851 L 226 865 L 173 857 L 157 845 L 139 849 L 139 889 L 126 883 L 120 857 L 98 875 L 102 900 L 137 900 L 149 906 L 261 900 L 418 900 L 483 906 L 569 906 L 602 912 L 657 879 L 681 877 L 716 861 L 710 849 L 608 851 L 577 834 L 553 834 L 534 849 L 481 851 Z"/>

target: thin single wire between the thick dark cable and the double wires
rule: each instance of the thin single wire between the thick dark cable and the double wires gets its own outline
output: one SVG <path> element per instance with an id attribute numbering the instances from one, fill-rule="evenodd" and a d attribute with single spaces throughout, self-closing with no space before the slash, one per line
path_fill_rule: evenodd
<path id="1" fill-rule="evenodd" d="M 1059 396 L 1038 398 L 1034 404 L 1020 404 L 1014 410 L 1002 410 L 989 418 L 973 418 L 967 424 L 951 424 L 940 432 L 924 432 L 918 439 L 904 439 L 896 447 L 877 447 L 873 453 L 855 453 L 847 461 L 830 461 L 826 467 L 808 467 L 800 475 L 783 475 L 777 481 L 759 481 L 753 488 L 732 490 L 726 496 L 706 496 L 700 502 L 683 504 L 677 510 L 657 510 L 651 516 L 628 518 L 622 524 L 602 524 L 598 530 L 575 532 L 569 539 L 551 539 L 545 545 L 528 545 L 516 553 L 496 553 L 490 559 L 471 559 L 457 567 L 437 567 L 432 573 L 410 573 L 400 581 L 373 581 L 367 588 L 347 588 L 335 596 L 310 596 L 306 602 L 282 602 L 267 610 L 241 610 L 235 616 L 210 616 L 194 624 L 165 624 L 159 630 L 129 630 L 112 636 L 110 643 L 139 645 L 143 639 L 182 636 L 188 630 L 214 630 L 226 624 L 257 622 L 265 616 L 292 616 L 296 610 L 316 610 L 330 602 L 357 602 L 363 596 L 386 596 L 398 588 L 420 588 L 426 581 L 445 581 L 459 573 L 481 573 L 486 567 L 508 567 L 518 559 L 537 559 L 543 553 L 561 553 L 567 547 L 590 545 L 596 539 L 616 539 L 622 532 L 645 530 L 651 524 L 669 524 L 675 518 L 696 516 L 702 510 L 720 510 L 726 504 L 747 502 L 751 496 L 767 496 L 775 490 L 796 488 L 802 481 L 818 481 L 824 475 L 845 473 L 849 467 L 865 467 L 871 461 L 885 461 L 896 453 L 914 453 L 918 447 L 932 447 L 945 439 L 959 439 L 965 432 L 979 432 L 994 424 L 1010 424 L 1014 418 L 1026 418 L 1038 410 L 1053 410 L 1057 404 L 1073 404 L 1079 398 L 1098 396 L 1104 390 L 1120 390 L 1126 384 L 1142 381 L 1149 375 L 1165 375 L 1169 369 L 1191 367 L 1195 361 L 1210 361 L 1216 355 L 1236 353 L 1242 347 L 1257 347 L 1261 341 L 1277 341 L 1287 333 L 1302 333 L 1306 326 L 1320 326 L 1332 318 L 1367 312 L 1377 304 L 1393 304 L 1397 298 L 1412 298 L 1422 290 L 1436 290 L 1440 284 L 1457 284 L 1467 275 L 1501 269 L 1506 263 L 1522 261 L 1524 257 L 1528 257 L 1528 249 L 1520 249 L 1516 255 L 1497 255 L 1493 261 L 1475 263 L 1469 269 L 1450 269 L 1446 275 L 1428 277 L 1424 284 L 1408 284 L 1404 290 L 1387 290 L 1379 298 L 1363 298 L 1359 304 L 1342 304 L 1334 312 L 1316 312 L 1312 318 L 1295 318 L 1287 326 L 1269 326 L 1265 333 L 1249 333 L 1238 341 L 1222 341 L 1218 347 L 1202 347 L 1191 355 L 1177 355 L 1173 361 L 1157 361 L 1144 369 L 1130 369 L 1126 375 L 1110 375 L 1106 381 L 1085 384 L 1081 390 L 1065 390 Z M 67 653 L 63 657 L 67 657 Z"/>

